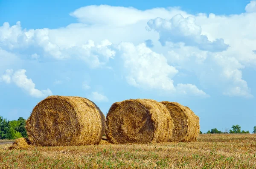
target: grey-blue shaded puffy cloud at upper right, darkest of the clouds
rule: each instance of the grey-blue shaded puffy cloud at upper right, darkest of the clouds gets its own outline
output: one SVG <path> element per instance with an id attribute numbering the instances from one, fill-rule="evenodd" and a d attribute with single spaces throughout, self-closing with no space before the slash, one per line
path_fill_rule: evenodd
<path id="1" fill-rule="evenodd" d="M 195 17 L 184 18 L 181 14 L 172 17 L 171 20 L 157 17 L 148 21 L 149 30 L 159 32 L 162 45 L 166 41 L 184 42 L 188 46 L 196 46 L 204 51 L 221 52 L 227 50 L 228 46 L 223 39 L 209 41 L 208 37 L 201 35 L 201 27 L 195 23 Z"/>

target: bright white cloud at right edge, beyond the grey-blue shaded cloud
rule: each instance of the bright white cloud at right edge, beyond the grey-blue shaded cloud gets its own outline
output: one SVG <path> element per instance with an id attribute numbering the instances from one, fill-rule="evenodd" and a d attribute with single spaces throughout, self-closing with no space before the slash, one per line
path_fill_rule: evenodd
<path id="1" fill-rule="evenodd" d="M 207 17 L 206 14 L 196 16 L 197 24 L 202 28 L 202 34 L 209 40 L 222 38 L 230 47 L 221 55 L 235 57 L 240 63 L 247 66 L 256 66 L 255 24 L 256 12 L 236 15 L 215 15 Z"/>

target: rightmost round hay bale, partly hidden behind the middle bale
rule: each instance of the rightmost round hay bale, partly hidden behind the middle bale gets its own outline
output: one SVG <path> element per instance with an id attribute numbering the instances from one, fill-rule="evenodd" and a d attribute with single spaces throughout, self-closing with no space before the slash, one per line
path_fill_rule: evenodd
<path id="1" fill-rule="evenodd" d="M 173 119 L 172 139 L 170 141 L 196 141 L 200 132 L 199 118 L 189 107 L 177 102 L 161 101 Z"/>

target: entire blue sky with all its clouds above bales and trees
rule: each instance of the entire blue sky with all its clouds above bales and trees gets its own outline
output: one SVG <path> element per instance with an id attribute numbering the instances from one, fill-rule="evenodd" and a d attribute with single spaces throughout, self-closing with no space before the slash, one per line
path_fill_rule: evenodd
<path id="1" fill-rule="evenodd" d="M 102 5 L 103 4 L 103 5 Z M 256 125 L 256 1 L 0 0 L 0 115 L 49 95 L 177 101 L 201 131 Z"/>

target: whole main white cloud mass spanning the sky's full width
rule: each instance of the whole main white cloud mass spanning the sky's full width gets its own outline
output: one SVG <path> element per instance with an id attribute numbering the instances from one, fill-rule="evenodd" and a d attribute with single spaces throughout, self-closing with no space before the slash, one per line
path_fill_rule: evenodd
<path id="1" fill-rule="evenodd" d="M 125 79 L 135 87 L 178 90 L 178 86 L 173 85 L 172 79 L 177 73 L 171 71 L 172 67 L 173 70 L 185 69 L 195 73 L 204 89 L 217 88 L 229 96 L 246 97 L 250 96 L 250 88 L 242 79 L 242 69 L 256 66 L 253 52 L 256 50 L 256 34 L 255 24 L 252 22 L 256 18 L 256 12 L 253 12 L 254 3 L 255 1 L 251 1 L 247 5 L 246 13 L 228 16 L 193 16 L 178 8 L 141 11 L 136 8 L 106 5 L 86 6 L 71 13 L 81 23 L 70 24 L 65 28 L 26 30 L 21 28 L 20 22 L 13 26 L 4 23 L 0 27 L 0 48 L 5 53 L 18 54 L 22 51 L 28 56 L 36 52 L 40 58 L 79 59 L 90 68 L 107 67 L 110 58 L 111 64 L 114 62 L 119 65 L 121 63 L 117 61 L 120 59 L 116 56 L 121 55 L 127 66 Z M 159 18 L 156 19 L 157 17 Z M 149 20 L 154 21 L 151 26 L 158 32 L 145 29 Z M 168 36 L 161 36 L 163 34 Z M 165 37 L 169 39 L 164 39 Z M 160 45 L 159 38 L 162 38 L 163 42 L 166 41 L 166 46 Z M 139 46 L 147 39 L 151 39 L 154 46 L 151 49 L 145 47 L 145 52 L 144 47 L 139 49 Z M 127 51 L 125 47 L 121 50 L 113 49 L 116 44 L 122 45 L 122 41 L 124 44 L 130 44 L 127 48 L 135 48 L 135 52 Z M 226 48 L 226 44 L 229 48 Z M 31 48 L 35 50 L 31 51 Z M 151 51 L 147 53 L 148 50 Z M 160 60 L 145 59 L 154 58 L 153 56 Z M 163 61 L 165 56 L 168 63 Z M 5 56 L 2 59 L 0 54 L 0 62 L 1 59 L 8 60 L 6 58 Z M 160 70 L 151 71 L 145 66 L 153 65 L 151 68 L 154 69 L 154 62 Z M 1 69 L 3 67 L 0 67 Z M 159 77 L 158 71 L 163 71 Z M 140 74 L 145 74 L 148 79 Z"/>

